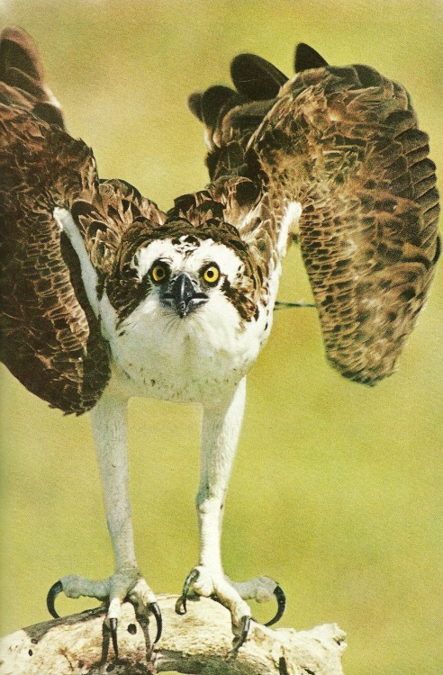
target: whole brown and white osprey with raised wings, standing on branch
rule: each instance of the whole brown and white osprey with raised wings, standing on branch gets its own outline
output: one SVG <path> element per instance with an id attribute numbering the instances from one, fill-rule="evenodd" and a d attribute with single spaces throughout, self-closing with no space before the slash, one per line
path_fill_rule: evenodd
<path id="1" fill-rule="evenodd" d="M 126 410 L 131 396 L 203 406 L 193 593 L 231 611 L 234 649 L 246 599 L 283 590 L 232 582 L 220 550 L 224 495 L 240 434 L 246 375 L 272 326 L 288 239 L 300 242 L 326 355 L 373 384 L 392 374 L 438 260 L 438 193 L 428 137 L 411 100 L 366 66 L 330 67 L 299 45 L 288 79 L 242 54 L 235 89 L 189 105 L 203 121 L 211 183 L 166 212 L 122 180 L 99 179 L 93 152 L 65 130 L 41 60 L 22 30 L 0 47 L 2 359 L 66 413 L 91 411 L 115 572 L 50 589 L 107 603 L 117 652 L 120 607 L 157 620 L 134 553 Z"/>

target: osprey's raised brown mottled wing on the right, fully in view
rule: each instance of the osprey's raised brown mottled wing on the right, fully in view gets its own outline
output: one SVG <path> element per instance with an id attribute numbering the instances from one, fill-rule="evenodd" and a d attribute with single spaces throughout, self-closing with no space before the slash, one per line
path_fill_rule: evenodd
<path id="1" fill-rule="evenodd" d="M 234 60 L 249 101 L 231 97 L 212 110 L 208 165 L 220 180 L 235 146 L 233 173 L 261 186 L 270 230 L 289 202 L 301 203 L 300 245 L 327 356 L 346 377 L 375 383 L 393 372 L 438 260 L 428 136 L 404 88 L 373 68 L 330 67 L 305 45 L 295 65 L 301 72 L 281 85 L 263 59 Z M 260 99 L 274 83 L 274 99 L 253 101 L 254 82 Z"/>

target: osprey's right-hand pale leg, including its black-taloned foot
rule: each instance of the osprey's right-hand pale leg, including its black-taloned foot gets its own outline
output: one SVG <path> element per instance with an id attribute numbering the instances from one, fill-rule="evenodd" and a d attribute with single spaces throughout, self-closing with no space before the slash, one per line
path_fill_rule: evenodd
<path id="1" fill-rule="evenodd" d="M 228 489 L 232 463 L 240 436 L 245 406 L 246 378 L 240 382 L 231 401 L 217 408 L 203 410 L 203 434 L 200 486 L 196 507 L 200 528 L 200 562 L 189 572 L 176 611 L 184 614 L 186 599 L 192 593 L 217 599 L 231 611 L 233 648 L 244 643 L 250 623 L 250 608 L 245 599 L 264 601 L 284 594 L 276 581 L 260 577 L 232 583 L 222 567 L 221 537 L 224 498 Z M 274 620 L 273 622 L 274 623 Z"/>

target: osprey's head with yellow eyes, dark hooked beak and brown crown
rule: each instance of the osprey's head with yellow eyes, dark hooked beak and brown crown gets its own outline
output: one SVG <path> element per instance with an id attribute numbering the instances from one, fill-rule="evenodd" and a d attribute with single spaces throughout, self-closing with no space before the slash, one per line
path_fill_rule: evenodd
<path id="1" fill-rule="evenodd" d="M 193 220 L 146 224 L 140 237 L 128 231 L 131 245 L 122 242 L 106 289 L 121 323 L 130 315 L 163 317 L 168 325 L 257 320 L 259 273 L 247 244 L 222 219 Z"/>

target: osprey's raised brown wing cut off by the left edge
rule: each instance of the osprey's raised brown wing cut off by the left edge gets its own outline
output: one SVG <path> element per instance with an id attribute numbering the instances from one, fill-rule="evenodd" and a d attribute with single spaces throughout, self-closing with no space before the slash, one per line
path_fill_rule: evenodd
<path id="1" fill-rule="evenodd" d="M 163 216 L 131 185 L 98 181 L 91 149 L 63 130 L 24 31 L 4 32 L 0 74 L 2 360 L 28 390 L 79 414 L 103 392 L 110 356 L 54 207 L 72 212 L 99 279 L 134 221 Z"/>

